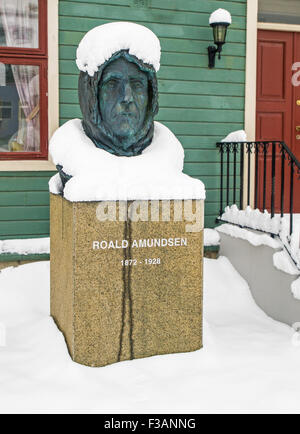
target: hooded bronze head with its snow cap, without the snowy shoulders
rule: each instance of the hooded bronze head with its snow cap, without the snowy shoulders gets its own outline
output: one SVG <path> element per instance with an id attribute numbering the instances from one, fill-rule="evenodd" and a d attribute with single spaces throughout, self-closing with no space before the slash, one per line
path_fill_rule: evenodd
<path id="1" fill-rule="evenodd" d="M 138 24 L 109 23 L 85 35 L 77 50 L 78 95 L 83 130 L 97 148 L 132 157 L 151 144 L 159 60 L 159 40 Z M 57 168 L 64 187 L 72 175 Z"/>

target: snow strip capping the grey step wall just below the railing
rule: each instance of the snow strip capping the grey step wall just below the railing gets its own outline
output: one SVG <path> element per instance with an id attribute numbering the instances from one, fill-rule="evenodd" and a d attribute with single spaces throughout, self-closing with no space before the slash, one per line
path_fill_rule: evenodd
<path id="1" fill-rule="evenodd" d="M 255 247 L 268 246 L 272 249 L 282 248 L 282 244 L 268 234 L 255 233 L 248 229 L 243 229 L 227 223 L 218 226 L 216 230 L 223 234 L 230 235 L 233 238 L 240 238 L 242 240 L 248 241 L 250 244 L 252 244 L 252 246 Z"/>

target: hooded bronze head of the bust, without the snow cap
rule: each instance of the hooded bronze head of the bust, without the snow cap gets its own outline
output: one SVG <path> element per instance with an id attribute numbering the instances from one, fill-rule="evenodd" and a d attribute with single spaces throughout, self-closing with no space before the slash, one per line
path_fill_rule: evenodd
<path id="1" fill-rule="evenodd" d="M 81 72 L 83 128 L 101 149 L 131 157 L 150 145 L 158 111 L 156 72 L 128 50 L 120 50 L 93 77 Z"/>

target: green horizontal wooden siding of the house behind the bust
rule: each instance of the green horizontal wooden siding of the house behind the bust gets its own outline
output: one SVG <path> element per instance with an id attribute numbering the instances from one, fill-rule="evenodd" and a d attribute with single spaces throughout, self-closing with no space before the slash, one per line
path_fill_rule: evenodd
<path id="1" fill-rule="evenodd" d="M 51 0 L 50 0 L 51 1 Z M 216 142 L 244 127 L 247 0 L 60 0 L 60 124 L 81 117 L 76 48 L 91 28 L 110 21 L 134 21 L 153 30 L 162 45 L 158 73 L 160 111 L 185 148 L 185 173 L 207 188 L 205 225 L 218 214 L 219 154 Z M 207 67 L 211 12 L 233 16 L 222 59 Z M 49 60 L 51 62 L 51 59 Z M 50 172 L 0 172 L 0 239 L 49 232 Z"/>

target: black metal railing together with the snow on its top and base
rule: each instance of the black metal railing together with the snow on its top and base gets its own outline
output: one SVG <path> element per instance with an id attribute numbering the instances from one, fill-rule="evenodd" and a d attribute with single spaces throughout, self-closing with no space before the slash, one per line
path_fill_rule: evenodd
<path id="1" fill-rule="evenodd" d="M 246 139 L 244 131 L 236 131 L 217 143 L 221 164 L 217 221 L 279 237 L 300 270 L 300 220 L 296 221 L 300 162 L 284 142 Z"/>

